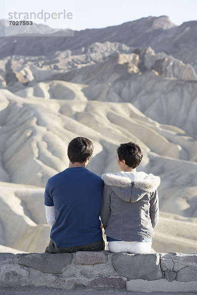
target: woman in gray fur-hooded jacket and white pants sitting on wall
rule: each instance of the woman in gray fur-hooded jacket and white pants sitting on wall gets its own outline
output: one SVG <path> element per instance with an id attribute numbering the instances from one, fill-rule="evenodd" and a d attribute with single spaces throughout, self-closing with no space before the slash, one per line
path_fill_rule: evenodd
<path id="1" fill-rule="evenodd" d="M 137 144 L 121 144 L 117 148 L 120 172 L 102 175 L 100 216 L 111 252 L 151 252 L 153 229 L 159 221 L 160 177 L 136 172 L 142 157 Z"/>

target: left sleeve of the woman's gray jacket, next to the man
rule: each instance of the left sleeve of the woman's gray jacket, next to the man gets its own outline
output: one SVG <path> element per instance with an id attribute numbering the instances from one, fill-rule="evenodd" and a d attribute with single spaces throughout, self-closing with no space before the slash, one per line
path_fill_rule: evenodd
<path id="1" fill-rule="evenodd" d="M 103 224 L 103 228 L 105 229 L 107 227 L 107 222 L 109 219 L 109 216 L 111 214 L 111 208 L 110 208 L 110 186 L 104 185 L 103 194 L 102 194 L 102 206 L 100 211 L 100 217 Z"/>

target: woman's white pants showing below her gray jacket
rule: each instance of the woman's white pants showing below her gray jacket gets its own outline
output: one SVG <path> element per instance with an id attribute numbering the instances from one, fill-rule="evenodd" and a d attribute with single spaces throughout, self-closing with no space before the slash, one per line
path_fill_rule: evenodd
<path id="1" fill-rule="evenodd" d="M 108 243 L 110 252 L 151 253 L 152 242 L 113 241 Z"/>

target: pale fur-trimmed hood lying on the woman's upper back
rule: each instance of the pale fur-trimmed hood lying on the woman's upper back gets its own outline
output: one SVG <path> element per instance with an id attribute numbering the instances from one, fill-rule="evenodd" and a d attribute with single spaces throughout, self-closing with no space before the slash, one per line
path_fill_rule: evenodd
<path id="1" fill-rule="evenodd" d="M 137 202 L 147 193 L 155 192 L 160 177 L 145 172 L 118 172 L 102 175 L 102 180 L 125 202 Z"/>

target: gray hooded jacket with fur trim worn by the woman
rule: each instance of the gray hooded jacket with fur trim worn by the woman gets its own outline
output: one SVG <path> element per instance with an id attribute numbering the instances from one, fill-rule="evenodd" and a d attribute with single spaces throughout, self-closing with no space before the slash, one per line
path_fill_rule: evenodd
<path id="1" fill-rule="evenodd" d="M 105 235 L 123 241 L 141 241 L 154 236 L 159 221 L 157 188 L 160 177 L 144 172 L 102 175 L 105 183 L 101 221 Z"/>

